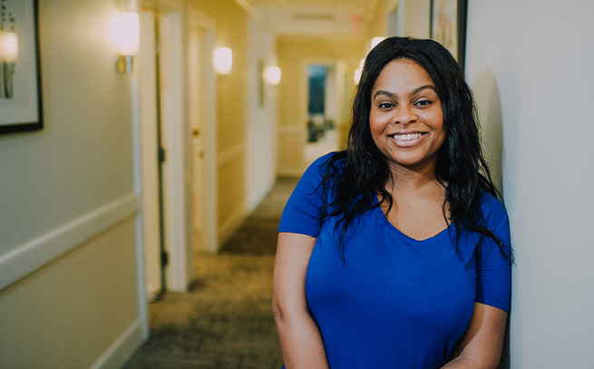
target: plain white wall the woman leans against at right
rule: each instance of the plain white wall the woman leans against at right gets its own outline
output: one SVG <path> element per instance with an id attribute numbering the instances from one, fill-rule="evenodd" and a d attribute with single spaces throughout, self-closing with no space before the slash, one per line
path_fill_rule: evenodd
<path id="1" fill-rule="evenodd" d="M 586 0 L 469 2 L 466 73 L 502 159 L 513 369 L 594 357 L 594 46 Z"/>

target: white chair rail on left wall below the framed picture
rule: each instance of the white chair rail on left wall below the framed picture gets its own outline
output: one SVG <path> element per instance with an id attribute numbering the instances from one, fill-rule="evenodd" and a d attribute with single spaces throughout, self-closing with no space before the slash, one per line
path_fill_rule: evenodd
<path id="1" fill-rule="evenodd" d="M 136 194 L 128 194 L 0 256 L 0 290 L 133 217 L 137 203 Z"/>

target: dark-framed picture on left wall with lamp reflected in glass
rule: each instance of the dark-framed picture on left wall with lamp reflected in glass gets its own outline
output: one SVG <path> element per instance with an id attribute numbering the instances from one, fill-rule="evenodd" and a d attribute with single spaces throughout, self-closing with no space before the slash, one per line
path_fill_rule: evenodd
<path id="1" fill-rule="evenodd" d="M 43 128 L 36 0 L 0 0 L 0 133 Z"/>

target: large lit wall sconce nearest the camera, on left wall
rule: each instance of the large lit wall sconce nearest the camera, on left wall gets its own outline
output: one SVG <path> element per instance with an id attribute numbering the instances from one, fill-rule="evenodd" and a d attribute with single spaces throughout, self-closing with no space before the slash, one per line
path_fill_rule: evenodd
<path id="1" fill-rule="evenodd" d="M 113 24 L 112 38 L 118 49 L 115 70 L 122 74 L 132 73 L 141 38 L 138 13 L 122 12 Z"/>

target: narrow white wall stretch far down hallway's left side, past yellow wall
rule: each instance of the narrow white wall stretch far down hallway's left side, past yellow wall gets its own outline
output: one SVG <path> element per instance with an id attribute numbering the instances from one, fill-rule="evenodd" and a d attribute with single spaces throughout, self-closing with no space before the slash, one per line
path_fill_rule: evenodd
<path id="1" fill-rule="evenodd" d="M 274 35 L 249 17 L 247 42 L 248 147 L 246 149 L 246 203 L 249 212 L 256 209 L 276 180 L 278 87 L 265 83 L 264 105 L 260 106 L 258 62 L 264 61 L 265 67 L 277 65 L 277 47 Z"/>

